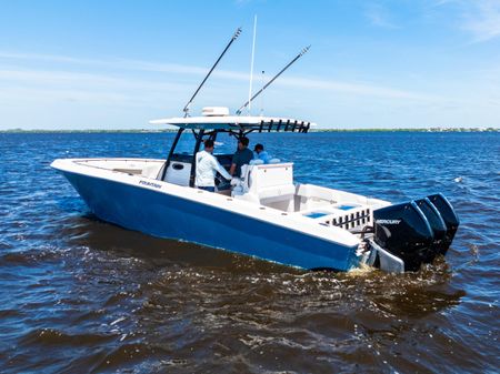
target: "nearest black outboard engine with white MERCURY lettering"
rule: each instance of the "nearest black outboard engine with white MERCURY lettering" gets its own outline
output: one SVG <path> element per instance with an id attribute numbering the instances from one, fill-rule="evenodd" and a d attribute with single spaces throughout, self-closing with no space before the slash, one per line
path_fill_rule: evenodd
<path id="1" fill-rule="evenodd" d="M 404 262 L 404 270 L 417 271 L 436 257 L 434 233 L 414 201 L 373 211 L 374 241 Z"/>

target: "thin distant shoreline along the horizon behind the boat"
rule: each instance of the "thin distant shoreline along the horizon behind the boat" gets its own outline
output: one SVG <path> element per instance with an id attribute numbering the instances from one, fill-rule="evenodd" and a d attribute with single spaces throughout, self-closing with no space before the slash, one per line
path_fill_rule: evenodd
<path id="1" fill-rule="evenodd" d="M 0 133 L 172 133 L 177 129 L 164 130 L 0 130 Z M 310 132 L 500 132 L 496 128 L 428 128 L 428 129 L 314 129 Z"/>

